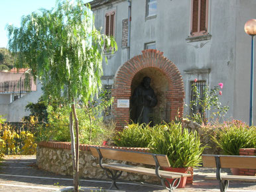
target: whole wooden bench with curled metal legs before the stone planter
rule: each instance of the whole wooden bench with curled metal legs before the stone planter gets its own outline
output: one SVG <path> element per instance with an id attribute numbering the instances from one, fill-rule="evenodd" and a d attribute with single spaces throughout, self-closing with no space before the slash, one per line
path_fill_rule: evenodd
<path id="1" fill-rule="evenodd" d="M 176 187 L 178 187 L 181 177 L 191 176 L 190 174 L 187 173 L 176 173 L 171 171 L 159 170 L 160 167 L 170 168 L 170 163 L 166 155 L 151 154 L 145 152 L 132 152 L 127 150 L 94 146 L 90 146 L 90 150 L 93 156 L 99 158 L 99 166 L 105 170 L 107 177 L 109 177 L 112 180 L 109 189 L 111 189 L 113 186 L 115 186 L 118 189 L 116 181 L 117 178 L 121 176 L 122 171 L 159 177 L 162 186 L 165 189 L 168 189 L 169 191 L 172 191 L 176 189 Z M 129 166 L 126 164 L 118 163 L 103 164 L 103 158 L 152 165 L 155 166 L 155 169 L 143 168 L 139 166 Z M 170 183 L 166 178 L 174 180 L 172 181 L 172 183 Z"/>

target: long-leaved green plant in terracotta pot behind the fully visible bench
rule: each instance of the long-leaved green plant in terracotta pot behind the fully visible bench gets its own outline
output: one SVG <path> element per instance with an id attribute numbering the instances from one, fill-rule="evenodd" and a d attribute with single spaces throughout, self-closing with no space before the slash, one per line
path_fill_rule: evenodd
<path id="1" fill-rule="evenodd" d="M 188 132 L 181 124 L 170 122 L 163 128 L 156 129 L 152 141 L 149 144 L 151 152 L 166 154 L 171 168 L 163 168 L 168 171 L 187 173 L 194 166 L 199 166 L 201 154 L 206 148 L 202 146 L 200 137 L 196 131 Z M 172 179 L 170 179 L 170 182 Z M 183 177 L 178 187 L 185 187 L 186 177 Z"/>

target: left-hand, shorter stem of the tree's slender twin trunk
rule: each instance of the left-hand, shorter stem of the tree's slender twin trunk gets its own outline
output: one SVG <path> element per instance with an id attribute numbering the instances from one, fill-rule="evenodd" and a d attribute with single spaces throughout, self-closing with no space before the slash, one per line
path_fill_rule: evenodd
<path id="1" fill-rule="evenodd" d="M 70 138 L 71 138 L 71 153 L 72 153 L 72 165 L 73 165 L 73 178 L 74 186 L 76 186 L 76 153 L 75 153 L 75 136 L 74 136 L 74 124 L 73 113 L 70 111 Z"/>

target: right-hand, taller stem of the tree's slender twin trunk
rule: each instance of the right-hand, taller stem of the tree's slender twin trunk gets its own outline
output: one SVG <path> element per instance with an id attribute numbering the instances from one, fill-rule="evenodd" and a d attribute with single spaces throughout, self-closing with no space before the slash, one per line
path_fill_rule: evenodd
<path id="1" fill-rule="evenodd" d="M 76 107 L 73 99 L 72 103 L 73 115 L 75 120 L 75 127 L 76 127 L 76 166 L 75 166 L 75 191 L 78 191 L 78 171 L 79 171 L 79 128 L 78 128 L 78 117 L 76 116 Z"/>

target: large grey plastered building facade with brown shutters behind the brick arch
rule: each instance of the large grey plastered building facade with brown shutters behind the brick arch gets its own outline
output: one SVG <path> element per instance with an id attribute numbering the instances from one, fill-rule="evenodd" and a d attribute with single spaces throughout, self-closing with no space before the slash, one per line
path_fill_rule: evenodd
<path id="1" fill-rule="evenodd" d="M 106 54 L 108 64 L 103 63 L 103 85 L 112 87 L 114 95 L 117 77 L 121 77 L 120 69 L 140 56 L 143 50 L 156 49 L 178 68 L 184 83 L 180 84 L 184 86 L 184 103 L 189 105 L 193 99 L 194 79 L 198 79 L 198 89 L 206 85 L 214 87 L 221 82 L 224 87 L 220 101 L 229 106 L 226 119 L 249 122 L 251 38 L 245 33 L 244 24 L 256 17 L 256 1 L 94 0 L 91 5 L 96 28 L 113 36 L 119 48 L 113 55 Z M 161 78 L 162 71 L 154 74 L 154 69 L 155 66 L 149 66 L 135 73 Z M 127 83 L 125 99 L 133 93 L 136 83 L 133 85 L 130 81 L 135 81 L 134 77 L 133 73 Z M 166 81 L 168 79 L 162 78 L 159 83 Z M 158 89 L 157 85 L 153 88 Z M 165 94 L 173 91 L 176 89 Z M 119 113 L 127 115 L 127 110 Z M 168 107 L 164 110 L 166 113 Z M 189 113 L 189 107 L 184 107 L 184 114 Z M 256 114 L 253 117 L 255 119 Z"/>

